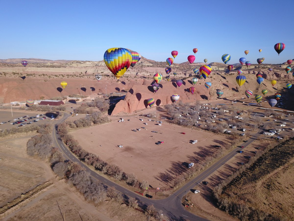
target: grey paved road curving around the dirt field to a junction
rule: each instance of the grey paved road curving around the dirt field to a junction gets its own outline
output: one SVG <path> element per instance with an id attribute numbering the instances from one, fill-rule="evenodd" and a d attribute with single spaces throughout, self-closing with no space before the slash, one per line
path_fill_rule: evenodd
<path id="1" fill-rule="evenodd" d="M 69 114 L 64 114 L 64 117 L 62 120 L 56 123 L 61 123 L 66 120 L 70 115 Z M 266 124 L 264 124 L 264 128 L 266 127 Z M 263 128 L 260 128 L 257 133 L 253 134 L 253 137 L 258 137 L 260 136 L 260 132 L 263 130 Z M 204 170 L 201 174 L 199 174 L 197 177 L 194 179 L 190 180 L 187 184 L 185 184 L 183 187 L 178 189 L 176 192 L 171 194 L 169 197 L 166 199 L 161 199 L 161 200 L 151 200 L 146 198 L 145 196 L 141 196 L 136 194 L 135 192 L 132 192 L 124 187 L 121 187 L 120 185 L 111 182 L 111 180 L 108 180 L 99 174 L 97 174 L 95 171 L 89 169 L 83 162 L 81 162 L 74 154 L 71 153 L 71 151 L 67 148 L 67 146 L 61 141 L 59 138 L 59 135 L 57 134 L 56 128 L 53 129 L 52 131 L 52 136 L 53 136 L 53 144 L 54 146 L 58 147 L 61 152 L 64 154 L 64 157 L 66 159 L 69 159 L 73 162 L 77 162 L 81 166 L 83 166 L 86 171 L 88 171 L 91 176 L 104 184 L 106 184 L 109 187 L 115 187 L 116 190 L 119 192 L 127 195 L 128 197 L 136 198 L 138 202 L 143 203 L 143 204 L 153 204 L 154 207 L 157 210 L 162 210 L 163 214 L 169 217 L 169 220 L 206 220 L 202 217 L 196 216 L 193 213 L 188 212 L 185 210 L 185 208 L 182 205 L 182 199 L 185 195 L 185 192 L 191 191 L 191 189 L 195 188 L 196 185 L 201 184 L 202 181 L 205 180 L 206 177 L 211 175 L 214 171 L 219 169 L 223 164 L 225 164 L 229 159 L 234 157 L 236 154 L 238 154 L 236 151 L 240 150 L 239 147 L 236 147 L 232 151 L 230 151 L 227 155 L 223 156 L 221 159 L 216 161 L 214 164 L 212 164 L 210 167 L 208 167 L 206 170 Z M 244 143 L 243 146 L 248 146 L 251 144 L 256 138 L 249 138 L 248 143 Z"/>

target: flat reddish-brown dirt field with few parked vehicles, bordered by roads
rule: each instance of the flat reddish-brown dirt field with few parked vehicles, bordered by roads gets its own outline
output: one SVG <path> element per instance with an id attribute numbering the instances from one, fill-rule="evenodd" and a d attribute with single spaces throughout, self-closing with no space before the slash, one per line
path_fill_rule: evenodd
<path id="1" fill-rule="evenodd" d="M 155 121 L 140 121 L 137 117 L 124 120 L 125 122 L 115 121 L 74 131 L 72 135 L 87 151 L 97 154 L 108 163 L 118 165 L 126 173 L 136 174 L 139 180 L 148 180 L 152 187 L 170 185 L 169 182 L 163 182 L 168 180 L 167 176 L 176 177 L 188 169 L 189 163 L 202 162 L 213 152 L 213 145 L 229 144 L 226 136 L 166 122 L 158 126 Z M 132 131 L 136 128 L 141 128 L 141 131 Z M 193 140 L 198 142 L 192 144 Z M 164 143 L 156 145 L 158 141 Z M 123 148 L 118 145 L 123 145 Z"/>

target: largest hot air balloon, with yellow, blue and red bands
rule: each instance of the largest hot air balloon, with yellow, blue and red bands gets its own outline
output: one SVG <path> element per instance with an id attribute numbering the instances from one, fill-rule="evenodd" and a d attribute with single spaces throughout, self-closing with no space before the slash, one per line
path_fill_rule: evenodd
<path id="1" fill-rule="evenodd" d="M 104 62 L 114 76 L 119 79 L 130 67 L 132 54 L 125 48 L 109 48 L 104 53 Z"/>

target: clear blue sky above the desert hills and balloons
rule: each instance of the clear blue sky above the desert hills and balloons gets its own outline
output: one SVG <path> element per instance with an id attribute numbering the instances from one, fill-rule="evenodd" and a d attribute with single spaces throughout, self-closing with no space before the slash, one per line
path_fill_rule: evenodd
<path id="1" fill-rule="evenodd" d="M 111 47 L 143 57 L 228 64 L 294 59 L 291 1 L 1 1 L 0 59 L 103 60 Z M 278 56 L 276 43 L 285 50 Z M 259 53 L 258 49 L 262 49 Z M 249 50 L 245 56 L 244 51 Z"/>

